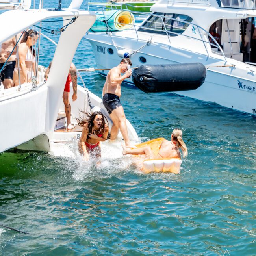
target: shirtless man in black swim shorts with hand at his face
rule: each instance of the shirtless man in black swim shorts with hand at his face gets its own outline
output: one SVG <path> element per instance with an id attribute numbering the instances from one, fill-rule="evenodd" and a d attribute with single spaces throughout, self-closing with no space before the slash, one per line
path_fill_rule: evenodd
<path id="1" fill-rule="evenodd" d="M 110 139 L 115 140 L 120 129 L 126 147 L 130 147 L 130 139 L 128 137 L 124 109 L 119 97 L 121 96 L 122 81 L 132 75 L 132 70 L 129 68 L 131 65 L 130 59 L 122 59 L 117 67 L 110 69 L 102 90 L 103 105 L 113 121 Z M 121 73 L 124 73 L 124 75 L 121 76 Z"/>

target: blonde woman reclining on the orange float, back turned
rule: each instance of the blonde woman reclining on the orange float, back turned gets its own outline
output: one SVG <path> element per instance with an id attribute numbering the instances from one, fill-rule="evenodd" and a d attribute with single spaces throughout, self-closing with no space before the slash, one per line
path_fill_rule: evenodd
<path id="1" fill-rule="evenodd" d="M 181 158 L 180 150 L 182 150 L 182 154 L 184 157 L 187 156 L 187 146 L 182 139 L 182 130 L 176 128 L 173 130 L 171 135 L 171 141 L 167 141 L 166 139 L 161 143 L 158 154 L 154 156 L 152 149 L 149 146 L 145 146 L 142 148 L 126 148 L 125 145 L 123 147 L 123 155 L 143 155 L 145 154 L 146 158 L 149 159 L 162 159 L 162 158 Z"/>

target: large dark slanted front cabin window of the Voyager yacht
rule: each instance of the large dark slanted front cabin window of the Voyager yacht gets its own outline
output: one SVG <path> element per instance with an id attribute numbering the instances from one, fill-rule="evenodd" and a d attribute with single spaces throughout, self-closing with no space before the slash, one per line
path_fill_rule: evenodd
<path id="1" fill-rule="evenodd" d="M 161 16 L 155 16 L 161 15 Z M 193 19 L 187 15 L 176 13 L 153 13 L 138 29 L 138 31 L 177 36 L 189 26 L 186 22 Z"/>

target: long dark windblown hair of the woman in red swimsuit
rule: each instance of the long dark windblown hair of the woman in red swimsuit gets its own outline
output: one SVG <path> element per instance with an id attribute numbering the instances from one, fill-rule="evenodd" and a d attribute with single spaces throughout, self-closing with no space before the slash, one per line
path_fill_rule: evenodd
<path id="1" fill-rule="evenodd" d="M 85 118 L 82 119 L 81 115 L 79 115 L 79 118 L 76 118 L 78 125 L 83 127 L 86 123 L 88 123 L 89 133 L 92 133 L 92 131 L 93 131 L 93 120 L 95 119 L 96 115 L 101 115 L 103 117 L 103 121 L 100 126 L 100 130 L 99 131 L 95 130 L 95 134 L 104 134 L 106 117 L 102 114 L 102 112 L 96 111 L 96 112 L 93 112 L 92 114 L 89 114 L 89 113 L 81 111 L 81 110 L 80 110 L 80 112 L 85 114 Z M 107 119 L 106 119 L 106 121 L 108 122 Z"/>

